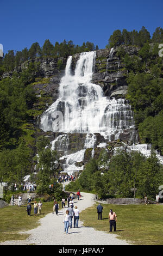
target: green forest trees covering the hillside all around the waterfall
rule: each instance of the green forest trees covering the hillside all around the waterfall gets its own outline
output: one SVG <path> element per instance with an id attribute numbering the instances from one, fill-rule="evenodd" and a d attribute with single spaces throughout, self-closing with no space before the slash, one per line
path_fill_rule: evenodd
<path id="1" fill-rule="evenodd" d="M 128 32 L 126 29 L 122 32 L 114 31 L 106 48 L 117 47 L 117 57 L 124 63 L 124 69 L 128 70 L 126 97 L 134 111 L 135 126 L 141 143 L 150 143 L 153 149 L 163 154 L 163 58 L 158 54 L 161 43 L 162 28 L 156 28 L 151 36 L 147 29 L 142 27 L 139 32 Z M 138 47 L 137 56 L 129 56 L 124 51 L 124 45 Z M 38 182 L 42 180 L 42 192 L 45 191 L 49 179 L 55 179 L 56 174 L 56 168 L 52 168 L 51 164 L 52 160 L 57 159 L 57 153 L 53 155 L 48 149 L 40 149 L 40 144 L 35 139 L 37 129 L 31 109 L 37 99 L 32 83 L 37 79 L 39 63 L 30 63 L 28 69 L 24 69 L 21 74 L 16 68 L 29 59 L 67 58 L 75 53 L 97 50 L 98 46 L 89 41 L 83 42 L 82 46 L 66 40 L 60 44 L 55 42 L 53 45 L 47 39 L 42 47 L 38 42 L 34 42 L 29 50 L 27 47 L 22 51 L 10 50 L 0 59 L 0 182 L 7 182 L 9 186 L 17 182 L 21 186 L 23 176 L 31 174 L 38 152 L 40 157 L 46 156 L 40 158 L 40 164 L 45 166 L 44 169 L 48 173 L 47 175 L 40 172 L 41 178 Z M 2 78 L 2 75 L 9 71 L 13 71 L 12 78 Z M 37 139 L 45 145 L 43 138 Z M 46 165 L 46 161 L 49 165 Z M 108 160 L 105 159 L 106 169 L 103 176 L 100 175 L 100 161 L 93 159 L 87 163 L 77 181 L 80 188 L 90 191 L 96 189 L 99 197 L 115 194 L 133 197 L 131 188 L 137 187 L 134 196 L 143 196 L 143 191 L 146 190 L 153 199 L 162 172 L 162 167 L 154 155 L 145 159 L 141 154 L 120 152 L 112 158 L 109 167 L 106 164 Z"/>

